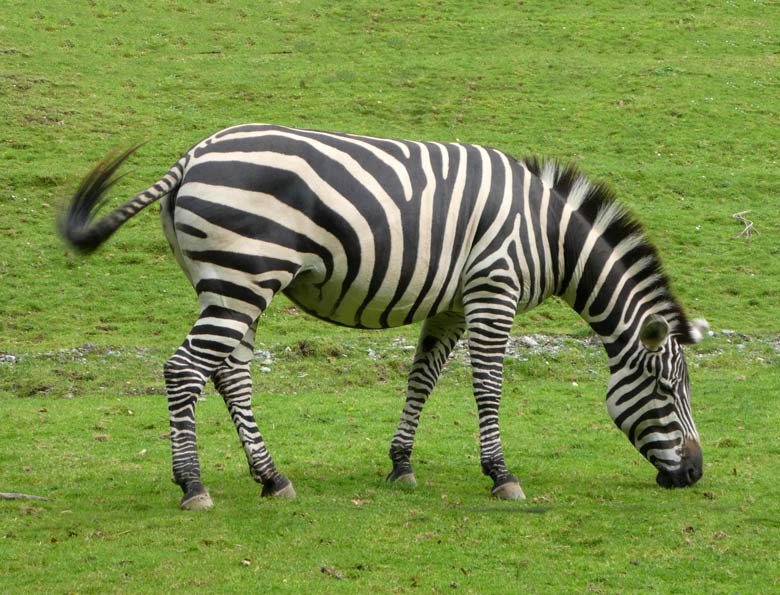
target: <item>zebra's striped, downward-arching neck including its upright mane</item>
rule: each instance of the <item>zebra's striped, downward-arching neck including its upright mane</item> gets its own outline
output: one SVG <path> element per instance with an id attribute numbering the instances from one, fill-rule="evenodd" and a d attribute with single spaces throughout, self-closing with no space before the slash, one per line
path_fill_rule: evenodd
<path id="1" fill-rule="evenodd" d="M 649 314 L 663 316 L 672 333 L 690 341 L 689 324 L 657 250 L 612 191 L 573 166 L 535 159 L 523 165 L 544 186 L 530 194 L 540 197 L 539 223 L 552 247 L 548 267 L 554 293 L 601 338 L 610 365 L 633 357 L 638 329 Z"/>

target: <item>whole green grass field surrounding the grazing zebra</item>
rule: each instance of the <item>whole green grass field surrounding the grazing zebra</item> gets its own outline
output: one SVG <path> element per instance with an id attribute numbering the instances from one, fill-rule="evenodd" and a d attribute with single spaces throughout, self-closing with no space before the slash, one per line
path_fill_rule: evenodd
<path id="1" fill-rule="evenodd" d="M 0 5 L 0 593 L 780 592 L 776 2 Z M 262 121 L 577 162 L 644 222 L 713 336 L 688 350 L 705 456 L 665 491 L 603 405 L 605 356 L 558 301 L 518 318 L 502 431 L 528 495 L 479 474 L 466 355 L 388 486 L 414 327 L 263 317 L 261 429 L 295 501 L 260 500 L 210 387 L 205 514 L 170 483 L 162 362 L 196 315 L 154 209 L 90 259 L 58 205 L 146 141 L 116 202 Z M 737 237 L 745 212 L 755 233 Z M 261 367 L 265 371 L 261 371 Z"/>

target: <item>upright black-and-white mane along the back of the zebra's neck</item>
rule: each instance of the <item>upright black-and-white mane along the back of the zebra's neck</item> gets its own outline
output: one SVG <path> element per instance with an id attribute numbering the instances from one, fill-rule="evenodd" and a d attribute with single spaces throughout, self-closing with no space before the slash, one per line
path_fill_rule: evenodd
<path id="1" fill-rule="evenodd" d="M 621 242 L 630 242 L 630 249 L 621 258 L 626 268 L 642 262 L 642 275 L 653 278 L 652 291 L 657 295 L 653 306 L 662 311 L 680 343 L 697 342 L 701 337 L 697 336 L 698 331 L 688 322 L 674 296 L 658 249 L 647 238 L 639 220 L 617 201 L 614 191 L 603 182 L 589 180 L 573 163 L 562 165 L 555 160 L 536 157 L 525 158 L 522 163 L 550 186 L 586 224 L 597 228 L 607 245 L 615 248 Z"/>

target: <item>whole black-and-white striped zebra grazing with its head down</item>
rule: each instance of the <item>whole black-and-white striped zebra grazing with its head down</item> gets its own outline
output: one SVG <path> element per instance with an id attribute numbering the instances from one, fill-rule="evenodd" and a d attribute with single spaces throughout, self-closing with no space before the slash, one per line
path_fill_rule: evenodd
<path id="1" fill-rule="evenodd" d="M 213 379 L 264 496 L 294 497 L 250 405 L 257 321 L 283 292 L 337 324 L 422 321 L 389 481 L 415 482 L 420 414 L 468 331 L 482 472 L 524 498 L 499 436 L 502 365 L 517 312 L 561 296 L 601 338 L 607 407 L 664 487 L 702 474 L 681 345 L 702 337 L 669 289 L 640 225 L 574 167 L 517 161 L 477 145 L 408 142 L 247 124 L 191 148 L 152 186 L 94 221 L 130 149 L 82 182 L 60 230 L 91 252 L 161 200 L 165 235 L 200 316 L 165 363 L 173 479 L 185 509 L 208 508 L 195 403 Z"/>

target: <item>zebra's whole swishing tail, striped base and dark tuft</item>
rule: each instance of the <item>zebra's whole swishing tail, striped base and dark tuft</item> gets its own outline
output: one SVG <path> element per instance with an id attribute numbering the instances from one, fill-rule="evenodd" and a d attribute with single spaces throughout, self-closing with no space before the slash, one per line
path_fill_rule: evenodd
<path id="1" fill-rule="evenodd" d="M 122 179 L 117 171 L 140 145 L 122 152 L 111 152 L 87 174 L 57 220 L 62 239 L 82 254 L 94 252 L 103 242 L 136 213 L 161 199 L 181 182 L 182 164 L 174 165 L 168 173 L 136 194 L 121 207 L 95 221 L 98 211 L 108 202 L 106 193 Z"/>

